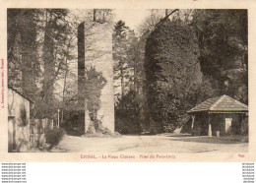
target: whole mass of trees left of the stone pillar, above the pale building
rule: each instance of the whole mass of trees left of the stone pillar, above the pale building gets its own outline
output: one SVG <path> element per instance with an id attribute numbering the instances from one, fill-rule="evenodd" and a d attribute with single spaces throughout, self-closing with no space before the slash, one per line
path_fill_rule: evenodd
<path id="1" fill-rule="evenodd" d="M 8 9 L 8 85 L 34 101 L 31 117 L 53 118 L 54 84 L 68 70 L 73 30 L 65 9 Z"/>

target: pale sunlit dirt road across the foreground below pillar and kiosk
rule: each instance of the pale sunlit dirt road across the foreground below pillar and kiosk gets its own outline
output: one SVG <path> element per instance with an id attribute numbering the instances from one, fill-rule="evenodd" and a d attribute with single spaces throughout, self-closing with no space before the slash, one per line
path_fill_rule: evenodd
<path id="1" fill-rule="evenodd" d="M 65 135 L 60 148 L 66 152 L 247 152 L 248 143 L 216 137 L 180 135 L 85 138 Z"/>

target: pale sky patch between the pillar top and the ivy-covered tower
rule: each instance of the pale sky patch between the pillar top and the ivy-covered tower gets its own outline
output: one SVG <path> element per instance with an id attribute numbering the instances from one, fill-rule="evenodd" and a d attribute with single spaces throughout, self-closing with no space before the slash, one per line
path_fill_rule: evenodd
<path id="1" fill-rule="evenodd" d="M 150 15 L 150 11 L 147 9 L 116 9 L 113 14 L 115 15 L 114 22 L 122 20 L 132 30 L 137 30 L 145 18 Z"/>

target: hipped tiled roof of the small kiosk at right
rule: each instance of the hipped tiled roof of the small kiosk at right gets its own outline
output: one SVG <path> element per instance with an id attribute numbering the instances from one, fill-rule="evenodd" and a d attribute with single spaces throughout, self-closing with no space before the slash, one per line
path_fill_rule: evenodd
<path id="1" fill-rule="evenodd" d="M 248 106 L 224 94 L 222 96 L 213 97 L 205 100 L 204 102 L 190 109 L 188 113 L 203 111 L 248 112 Z"/>

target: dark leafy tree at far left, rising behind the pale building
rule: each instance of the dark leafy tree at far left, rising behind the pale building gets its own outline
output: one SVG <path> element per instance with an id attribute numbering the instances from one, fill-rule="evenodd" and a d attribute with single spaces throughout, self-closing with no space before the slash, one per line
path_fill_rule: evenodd
<path id="1" fill-rule="evenodd" d="M 40 73 L 37 21 L 40 11 L 9 9 L 8 19 L 8 85 L 34 99 Z"/>

